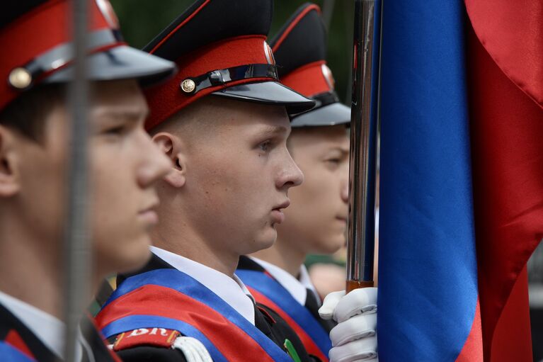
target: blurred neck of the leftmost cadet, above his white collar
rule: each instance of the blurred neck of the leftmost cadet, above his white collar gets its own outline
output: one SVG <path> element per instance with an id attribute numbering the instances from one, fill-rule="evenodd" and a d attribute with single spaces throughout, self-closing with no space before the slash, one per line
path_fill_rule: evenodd
<path id="1" fill-rule="evenodd" d="M 16 217 L 16 212 L 2 211 L 0 290 L 62 319 L 64 290 L 57 240 L 39 239 L 32 227 Z"/>

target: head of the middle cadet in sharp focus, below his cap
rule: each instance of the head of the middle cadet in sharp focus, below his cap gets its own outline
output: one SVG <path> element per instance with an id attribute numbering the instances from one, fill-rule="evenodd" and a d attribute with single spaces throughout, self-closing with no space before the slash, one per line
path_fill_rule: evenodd
<path id="1" fill-rule="evenodd" d="M 287 149 L 285 108 L 208 96 L 163 130 L 154 140 L 176 166 L 166 177 L 173 188 L 161 195 L 161 215 L 192 238 L 181 249 L 198 239 L 237 263 L 241 254 L 270 247 L 290 204 L 287 193 L 303 181 Z"/>

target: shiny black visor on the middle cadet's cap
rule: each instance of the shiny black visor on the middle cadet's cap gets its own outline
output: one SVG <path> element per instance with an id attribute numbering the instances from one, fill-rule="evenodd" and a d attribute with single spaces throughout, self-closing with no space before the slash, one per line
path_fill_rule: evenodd
<path id="1" fill-rule="evenodd" d="M 285 106 L 289 115 L 308 111 L 315 106 L 315 101 L 302 96 L 277 81 L 239 84 L 221 89 L 212 94 L 239 101 Z"/>

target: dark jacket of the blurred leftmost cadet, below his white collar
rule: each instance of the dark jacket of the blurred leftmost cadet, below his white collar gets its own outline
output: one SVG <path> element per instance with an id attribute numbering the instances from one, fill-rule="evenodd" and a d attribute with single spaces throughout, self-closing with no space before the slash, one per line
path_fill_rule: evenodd
<path id="1" fill-rule="evenodd" d="M 88 317 L 81 320 L 81 332 L 85 339 L 85 346 L 81 347 L 81 362 L 119 362 L 107 346 L 103 343 L 101 334 L 94 327 Z M 11 344 L 23 354 L 39 362 L 59 361 L 55 353 L 40 341 L 28 327 L 15 315 L 0 304 L 0 341 Z M 0 356 L 0 361 L 9 362 L 5 356 Z"/>

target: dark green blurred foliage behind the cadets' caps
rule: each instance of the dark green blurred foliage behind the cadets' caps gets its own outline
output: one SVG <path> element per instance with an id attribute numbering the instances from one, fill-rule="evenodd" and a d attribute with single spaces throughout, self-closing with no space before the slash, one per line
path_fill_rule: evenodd
<path id="1" fill-rule="evenodd" d="M 194 0 L 110 0 L 117 13 L 125 40 L 134 47 L 144 47 Z M 236 0 L 229 0 L 236 1 Z M 304 0 L 275 0 L 269 38 Z M 350 104 L 350 72 L 353 43 L 353 1 L 319 0 L 324 22 L 328 26 L 328 67 L 336 79 L 336 91 L 343 103 Z M 212 24 L 210 24 L 212 26 Z"/>

